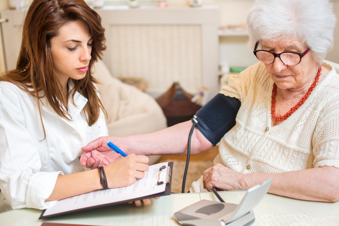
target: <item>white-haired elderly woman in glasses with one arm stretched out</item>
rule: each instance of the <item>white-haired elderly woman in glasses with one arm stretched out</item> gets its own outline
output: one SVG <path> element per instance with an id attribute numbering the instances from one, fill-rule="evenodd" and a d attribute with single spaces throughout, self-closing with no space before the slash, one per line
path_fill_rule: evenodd
<path id="1" fill-rule="evenodd" d="M 339 75 L 322 63 L 333 45 L 335 15 L 327 0 L 257 0 L 247 16 L 250 44 L 260 62 L 220 91 L 241 106 L 236 125 L 219 144 L 216 165 L 194 191 L 248 189 L 273 178 L 268 192 L 314 201 L 339 200 Z M 220 95 L 218 94 L 218 95 Z M 184 155 L 192 122 L 126 138 L 102 137 L 83 147 L 83 165 L 127 153 Z M 192 153 L 211 148 L 194 129 Z M 91 157 L 92 155 L 92 157 Z"/>

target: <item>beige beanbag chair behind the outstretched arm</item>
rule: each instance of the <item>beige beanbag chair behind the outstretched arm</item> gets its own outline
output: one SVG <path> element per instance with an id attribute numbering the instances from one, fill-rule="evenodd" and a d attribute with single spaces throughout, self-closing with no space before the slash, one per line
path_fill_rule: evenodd
<path id="1" fill-rule="evenodd" d="M 110 136 L 124 137 L 167 127 L 166 117 L 154 98 L 113 77 L 102 61 L 96 63 L 94 77 L 101 83 L 98 90 L 107 111 Z M 154 164 L 159 158 L 151 156 L 149 164 Z"/>

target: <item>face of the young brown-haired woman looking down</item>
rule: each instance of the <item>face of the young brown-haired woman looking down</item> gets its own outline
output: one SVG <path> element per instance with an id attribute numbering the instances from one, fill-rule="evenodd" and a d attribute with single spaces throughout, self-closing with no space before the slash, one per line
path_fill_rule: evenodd
<path id="1" fill-rule="evenodd" d="M 66 86 L 68 78 L 82 79 L 91 60 L 93 39 L 80 21 L 64 24 L 51 39 L 51 55 L 55 76 Z"/>

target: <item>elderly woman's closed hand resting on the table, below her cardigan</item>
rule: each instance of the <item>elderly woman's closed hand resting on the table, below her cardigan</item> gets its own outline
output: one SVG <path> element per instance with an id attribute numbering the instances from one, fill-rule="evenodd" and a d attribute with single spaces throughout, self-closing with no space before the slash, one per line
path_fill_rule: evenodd
<path id="1" fill-rule="evenodd" d="M 233 171 L 221 164 L 216 164 L 204 171 L 204 188 L 212 191 L 217 190 L 242 190 L 240 185 L 243 173 Z"/>

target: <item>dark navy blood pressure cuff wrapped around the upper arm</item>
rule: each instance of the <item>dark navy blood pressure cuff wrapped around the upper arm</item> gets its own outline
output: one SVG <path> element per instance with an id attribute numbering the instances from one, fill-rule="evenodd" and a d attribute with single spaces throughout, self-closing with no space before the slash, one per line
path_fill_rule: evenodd
<path id="1" fill-rule="evenodd" d="M 217 94 L 200 108 L 194 119 L 197 129 L 215 146 L 235 124 L 241 102 L 234 97 Z"/>

